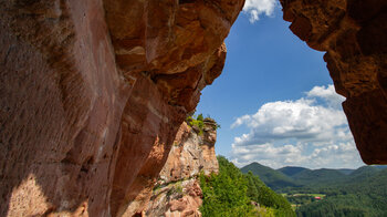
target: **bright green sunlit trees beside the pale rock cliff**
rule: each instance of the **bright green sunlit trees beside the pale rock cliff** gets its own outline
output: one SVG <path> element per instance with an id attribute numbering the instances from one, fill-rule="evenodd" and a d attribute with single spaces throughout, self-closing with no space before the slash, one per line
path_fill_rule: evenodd
<path id="1" fill-rule="evenodd" d="M 239 168 L 218 156 L 219 174 L 200 175 L 203 204 L 200 211 L 206 216 L 295 216 L 287 200 L 266 187 L 251 173 L 243 175 Z M 251 202 L 259 203 L 257 209 Z"/>

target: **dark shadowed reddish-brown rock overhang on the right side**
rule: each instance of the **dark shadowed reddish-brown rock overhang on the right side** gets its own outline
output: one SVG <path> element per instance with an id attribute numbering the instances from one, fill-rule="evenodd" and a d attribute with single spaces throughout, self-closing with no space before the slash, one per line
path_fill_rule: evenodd
<path id="1" fill-rule="evenodd" d="M 336 92 L 362 158 L 387 164 L 387 1 L 281 0 L 290 29 L 326 51 Z"/>

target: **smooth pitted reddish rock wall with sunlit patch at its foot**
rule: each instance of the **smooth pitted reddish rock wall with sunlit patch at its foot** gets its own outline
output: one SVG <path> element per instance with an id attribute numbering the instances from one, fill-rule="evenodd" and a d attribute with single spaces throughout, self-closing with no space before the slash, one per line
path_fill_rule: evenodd
<path id="1" fill-rule="evenodd" d="M 133 85 L 102 2 L 2 1 L 0 17 L 0 216 L 107 216 Z"/>

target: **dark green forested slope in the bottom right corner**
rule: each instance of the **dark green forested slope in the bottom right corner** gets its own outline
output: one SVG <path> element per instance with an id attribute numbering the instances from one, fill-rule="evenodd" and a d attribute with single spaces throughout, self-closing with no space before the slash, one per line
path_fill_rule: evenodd
<path id="1" fill-rule="evenodd" d="M 365 170 L 360 168 L 359 173 Z M 369 169 L 369 170 L 373 170 Z M 369 175 L 365 172 L 365 176 Z M 356 177 L 359 173 L 355 173 Z M 297 208 L 297 216 L 387 216 L 387 169 L 345 185 L 331 186 L 326 198 Z"/>

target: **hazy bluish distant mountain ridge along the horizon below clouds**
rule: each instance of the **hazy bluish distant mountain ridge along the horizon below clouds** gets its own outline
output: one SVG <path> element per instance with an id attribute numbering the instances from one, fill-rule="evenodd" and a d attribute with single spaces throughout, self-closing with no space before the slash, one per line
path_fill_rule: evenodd
<path id="1" fill-rule="evenodd" d="M 376 175 L 387 166 L 362 166 L 349 168 L 320 168 L 310 169 L 297 166 L 286 166 L 279 169 L 264 166 L 257 162 L 241 168 L 242 173 L 251 170 L 271 188 L 279 190 L 285 187 L 327 187 L 345 183 L 360 182 Z"/>

